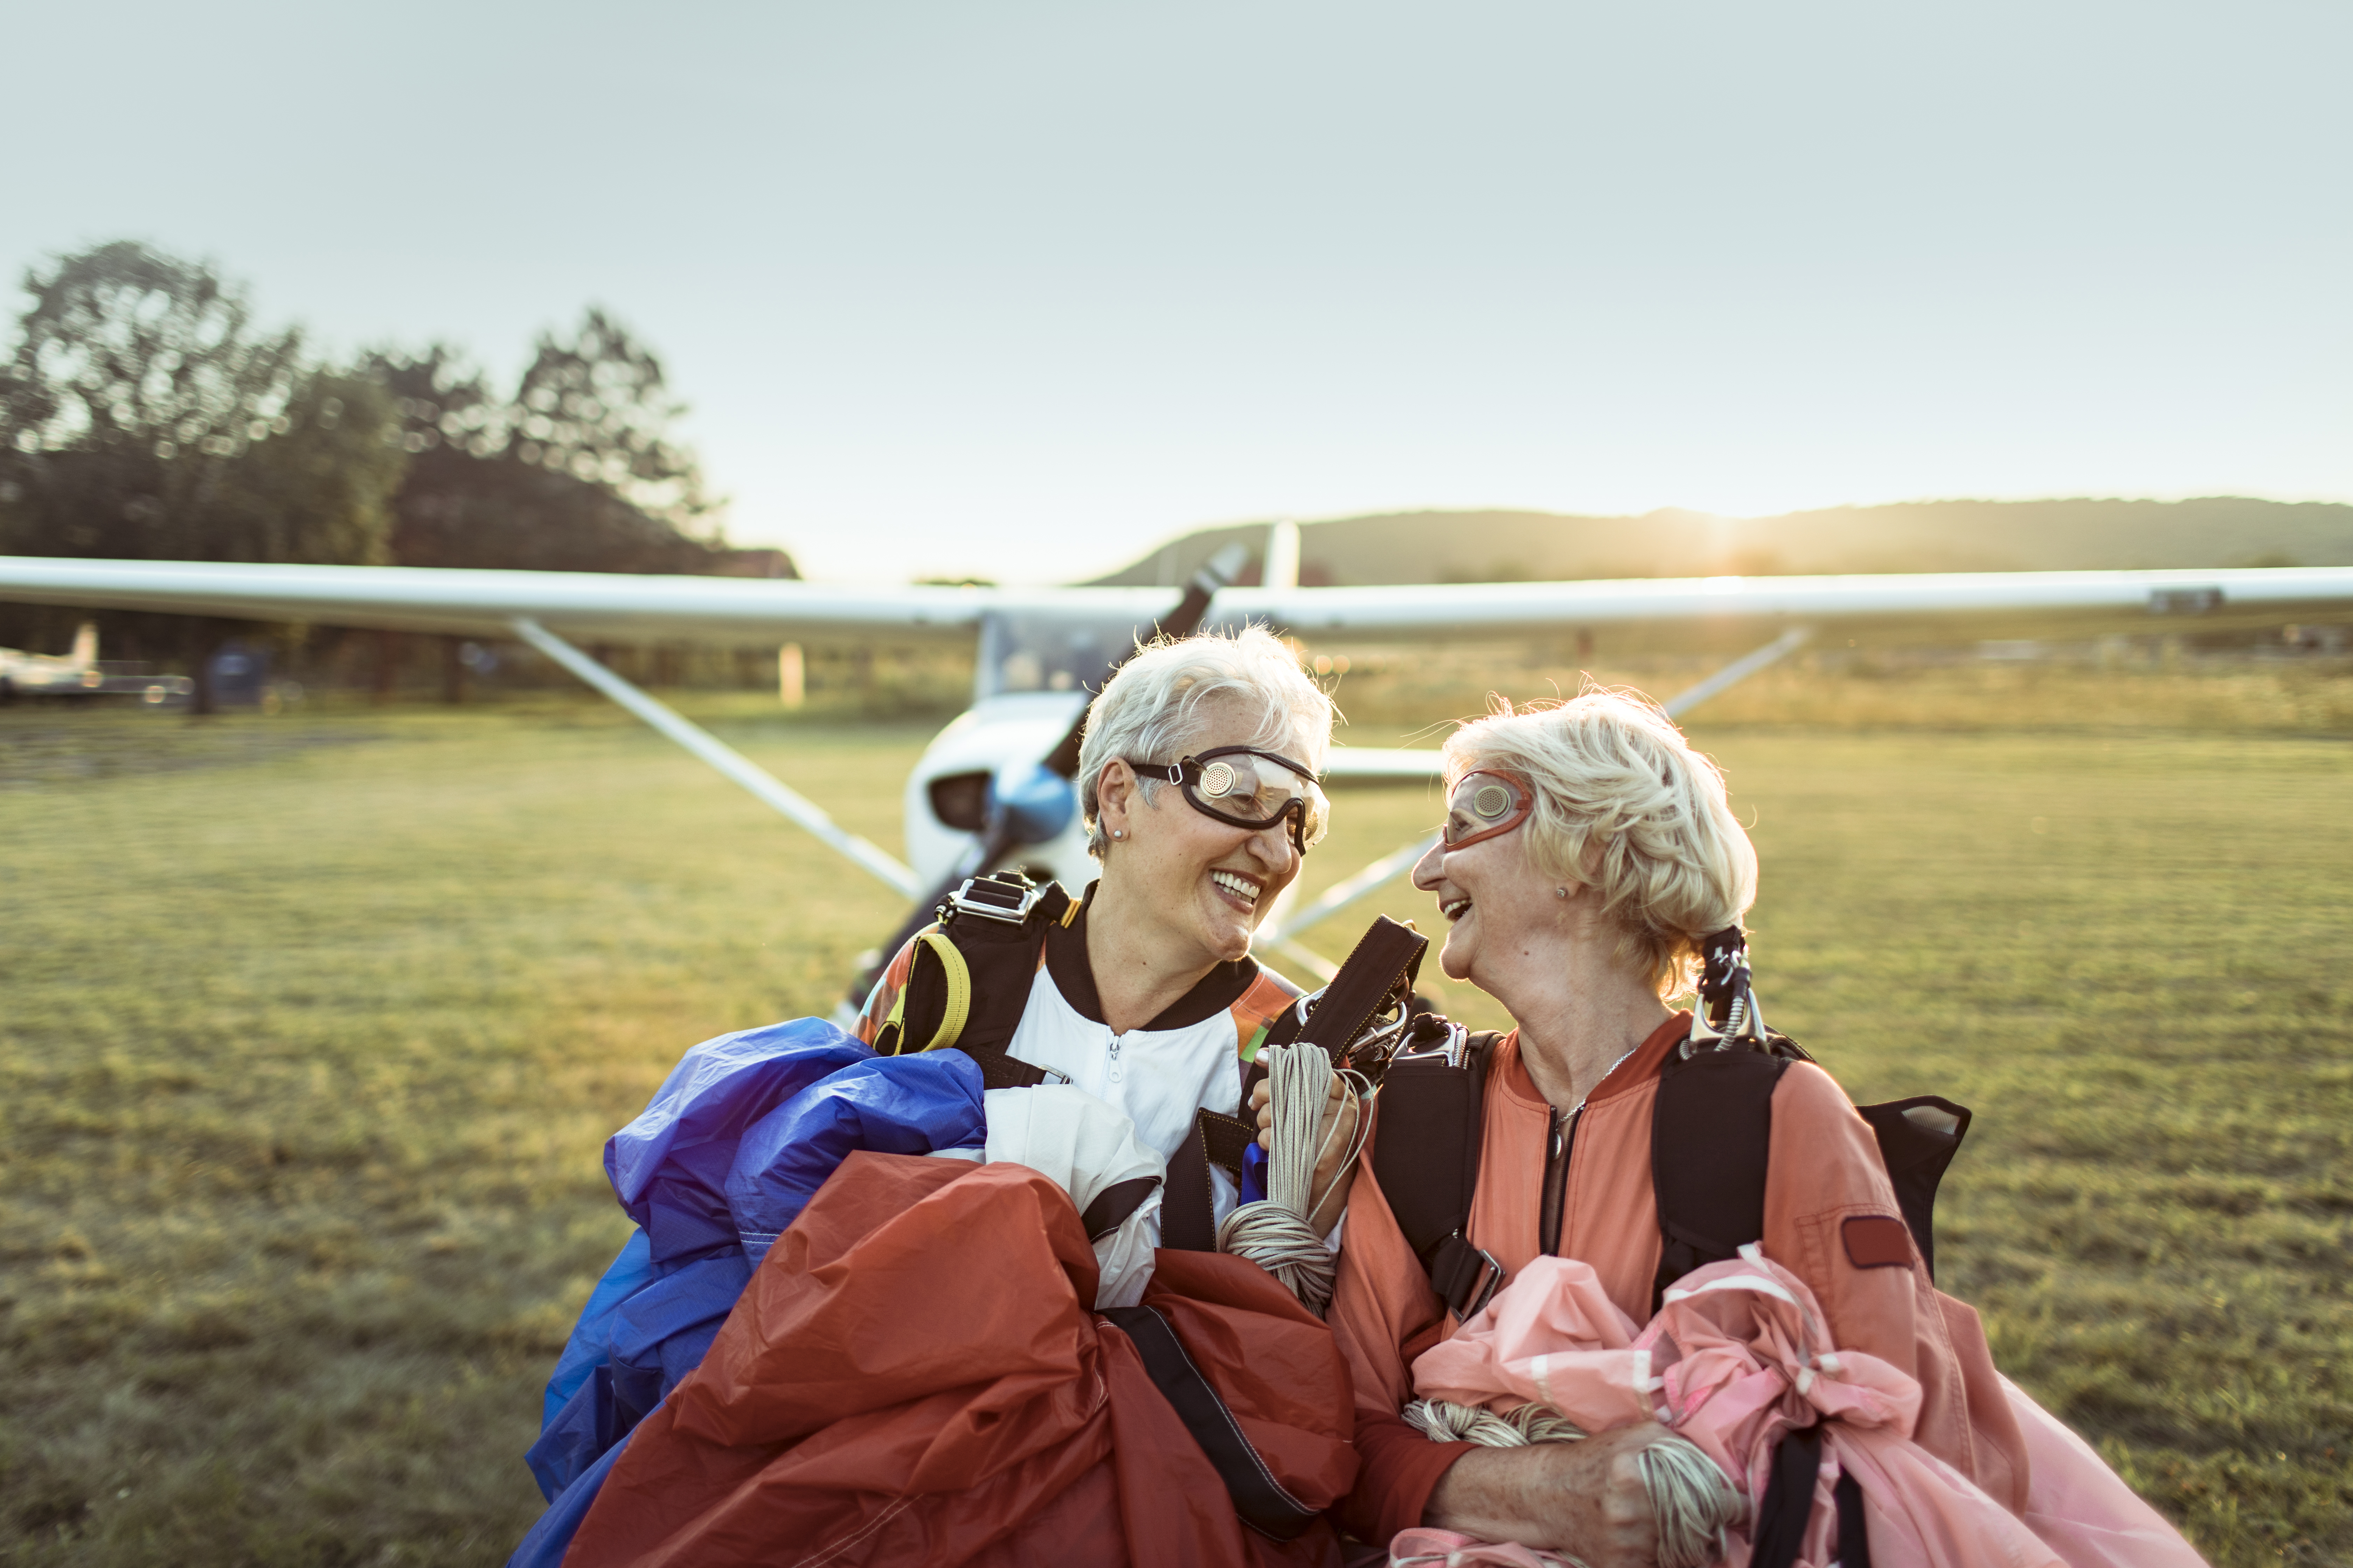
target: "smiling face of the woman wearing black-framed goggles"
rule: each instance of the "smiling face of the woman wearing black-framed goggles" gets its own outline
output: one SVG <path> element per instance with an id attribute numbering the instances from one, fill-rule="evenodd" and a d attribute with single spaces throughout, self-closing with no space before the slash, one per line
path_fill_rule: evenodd
<path id="1" fill-rule="evenodd" d="M 1249 745 L 1257 729 L 1259 715 L 1247 705 L 1212 703 L 1181 750 L 1191 757 L 1219 745 Z M 1115 783 L 1115 773 L 1125 780 Z M 1158 785 L 1144 804 L 1134 773 L 1122 764 L 1104 771 L 1101 795 L 1104 827 L 1118 835 L 1104 856 L 1106 886 L 1118 879 L 1125 896 L 1155 912 L 1169 940 L 1186 943 L 1205 961 L 1247 957 L 1266 910 L 1299 877 L 1301 853 L 1292 846 L 1289 823 L 1257 830 L 1219 823 L 1195 811 L 1174 785 Z"/>

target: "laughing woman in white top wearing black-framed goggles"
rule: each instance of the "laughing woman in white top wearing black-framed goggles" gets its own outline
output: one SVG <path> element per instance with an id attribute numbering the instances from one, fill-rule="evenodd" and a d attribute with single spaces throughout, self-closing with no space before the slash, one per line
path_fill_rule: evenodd
<path id="1" fill-rule="evenodd" d="M 1007 1056 L 1113 1105 L 1162 1159 L 1195 1112 L 1240 1114 L 1257 1041 L 1299 997 L 1249 940 L 1325 832 L 1332 719 L 1332 698 L 1264 628 L 1155 642 L 1087 715 L 1080 811 L 1104 872 L 1047 931 Z M 918 940 L 868 997 L 864 1041 L 889 1020 Z M 1351 1143 L 1355 1107 L 1339 1084 L 1332 1112 L 1351 1119 L 1329 1138 L 1318 1190 Z M 1214 1222 L 1235 1190 L 1224 1171 L 1212 1182 Z"/>

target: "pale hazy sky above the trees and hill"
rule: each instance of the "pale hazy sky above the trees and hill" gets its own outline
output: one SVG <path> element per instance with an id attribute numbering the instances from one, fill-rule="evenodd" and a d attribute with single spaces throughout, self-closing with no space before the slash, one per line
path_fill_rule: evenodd
<path id="1" fill-rule="evenodd" d="M 2353 7 L 9 0 L 0 261 L 339 350 L 600 301 L 732 534 L 2353 501 Z M 19 306 L 9 306 L 14 310 Z"/>

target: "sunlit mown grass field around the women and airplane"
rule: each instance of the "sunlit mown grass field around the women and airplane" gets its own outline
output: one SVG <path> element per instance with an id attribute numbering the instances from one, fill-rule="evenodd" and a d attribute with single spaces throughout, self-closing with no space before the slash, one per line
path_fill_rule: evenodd
<path id="1" fill-rule="evenodd" d="M 1946 1288 L 2217 1563 L 2353 1561 L 2341 696 L 1694 724 L 1755 813 L 1769 1018 L 1859 1098 L 1977 1110 Z M 896 844 L 929 724 L 689 708 Z M 1431 818 L 1344 797 L 1308 891 Z M 0 1556 L 504 1561 L 626 1227 L 602 1138 L 894 914 L 586 701 L 0 712 Z"/>

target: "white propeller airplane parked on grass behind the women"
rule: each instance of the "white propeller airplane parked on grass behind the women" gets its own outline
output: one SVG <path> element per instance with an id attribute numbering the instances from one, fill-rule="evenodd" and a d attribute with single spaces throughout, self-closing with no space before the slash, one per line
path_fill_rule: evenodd
<path id="1" fill-rule="evenodd" d="M 520 637 L 861 870 L 929 907 L 960 877 L 1024 865 L 1085 884 L 1092 860 L 1078 825 L 1073 731 L 1087 689 L 1155 625 L 1264 621 L 1301 637 L 1442 642 L 1560 635 L 1572 628 L 1668 623 L 1755 625 L 1774 632 L 1753 654 L 1668 698 L 1685 712 L 1800 646 L 1809 628 L 1920 618 L 2198 616 L 2294 618 L 2353 602 L 2353 569 L 2228 571 L 1972 571 L 1887 576 L 1711 576 L 1584 583 L 1445 583 L 1299 588 L 1299 531 L 1268 534 L 1261 583 L 1224 585 L 1228 548 L 1176 588 L 847 588 L 833 583 L 621 576 L 588 571 L 459 571 L 416 567 L 247 567 L 0 555 L 0 599 L 85 609 L 146 609 L 238 621 L 308 621 L 459 637 Z M 925 750 L 906 780 L 901 863 L 845 832 L 814 802 L 680 717 L 579 649 L 579 642 L 979 639 L 974 703 Z M 78 654 L 80 642 L 75 644 Z M 94 649 L 92 649 L 94 654 Z M 1061 755 L 1056 755 L 1061 752 Z M 1337 748 L 1334 783 L 1428 780 L 1428 750 Z M 1424 851 L 1407 844 L 1306 907 L 1268 910 L 1261 940 L 1311 973 L 1329 964 L 1292 938 L 1374 891 Z M 882 952 L 889 952 L 885 947 Z"/>

